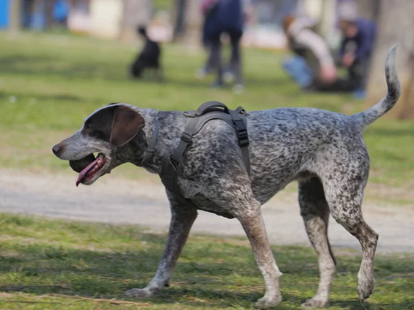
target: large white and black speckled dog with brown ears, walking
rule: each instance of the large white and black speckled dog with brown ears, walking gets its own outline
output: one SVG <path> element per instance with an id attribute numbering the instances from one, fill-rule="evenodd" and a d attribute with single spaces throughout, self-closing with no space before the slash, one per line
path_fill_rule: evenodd
<path id="1" fill-rule="evenodd" d="M 324 307 L 328 303 L 335 273 L 327 236 L 329 214 L 361 243 L 357 291 L 359 300 L 371 296 L 378 234 L 361 211 L 370 163 L 362 132 L 400 97 L 395 48 L 386 59 L 386 97 L 364 112 L 351 116 L 311 108 L 249 112 L 250 178 L 233 127 L 220 120 L 206 123 L 179 165 L 178 184 L 190 200 L 179 203 L 167 191 L 172 219 L 157 273 L 147 287 L 130 289 L 126 296 L 146 298 L 168 286 L 197 209 L 201 209 L 242 223 L 266 283 L 266 293 L 256 306 L 266 309 L 279 304 L 282 273 L 270 250 L 260 207 L 293 180 L 299 182 L 301 214 L 320 272 L 317 293 L 303 306 Z M 186 117 L 181 112 L 111 104 L 90 115 L 83 127 L 55 145 L 53 152 L 80 172 L 77 185 L 90 185 L 123 163 L 141 166 L 156 118 L 158 143 L 143 167 L 159 174 L 162 159 L 172 154 L 184 130 Z M 99 152 L 97 158 L 94 152 Z"/>

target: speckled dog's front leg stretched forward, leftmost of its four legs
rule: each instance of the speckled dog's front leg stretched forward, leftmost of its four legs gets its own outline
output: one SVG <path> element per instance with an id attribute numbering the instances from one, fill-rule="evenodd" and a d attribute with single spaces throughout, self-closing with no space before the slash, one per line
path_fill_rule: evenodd
<path id="1" fill-rule="evenodd" d="M 130 289 L 129 291 L 126 291 L 126 296 L 148 298 L 161 291 L 164 286 L 169 286 L 172 270 L 181 254 L 181 250 L 186 244 L 191 226 L 193 226 L 195 218 L 197 218 L 197 210 L 195 208 L 186 207 L 183 209 L 181 207 L 182 206 L 178 208 L 178 206 L 171 201 L 172 216 L 167 245 L 164 249 L 164 254 L 159 262 L 157 273 L 155 273 L 154 278 L 150 280 L 144 289 Z"/>

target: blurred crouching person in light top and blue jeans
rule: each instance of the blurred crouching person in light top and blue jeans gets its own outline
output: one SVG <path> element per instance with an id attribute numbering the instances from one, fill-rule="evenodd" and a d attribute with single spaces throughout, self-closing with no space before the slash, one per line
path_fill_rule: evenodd
<path id="1" fill-rule="evenodd" d="M 305 90 L 328 87 L 337 80 L 335 61 L 325 39 L 313 27 L 315 21 L 291 14 L 283 19 L 289 49 L 295 54 L 283 67 Z"/>

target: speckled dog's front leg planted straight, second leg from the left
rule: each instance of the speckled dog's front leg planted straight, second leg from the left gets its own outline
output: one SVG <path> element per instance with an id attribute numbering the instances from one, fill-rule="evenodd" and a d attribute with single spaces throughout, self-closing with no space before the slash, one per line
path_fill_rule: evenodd
<path id="1" fill-rule="evenodd" d="M 244 231 L 246 231 L 255 254 L 257 266 L 262 272 L 266 285 L 266 293 L 263 298 L 257 300 L 255 307 L 259 309 L 275 307 L 282 301 L 282 294 L 279 290 L 279 277 L 282 276 L 282 272 L 279 271 L 275 258 L 273 258 L 262 213 L 257 210 L 255 214 L 239 217 L 239 221 L 242 223 Z"/>

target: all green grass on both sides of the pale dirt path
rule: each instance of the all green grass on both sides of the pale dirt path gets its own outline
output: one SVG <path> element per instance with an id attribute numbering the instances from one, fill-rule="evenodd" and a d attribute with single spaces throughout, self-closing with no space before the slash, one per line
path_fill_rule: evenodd
<path id="1" fill-rule="evenodd" d="M 160 1 L 161 2 L 161 1 Z M 127 102 L 159 110 L 195 109 L 208 100 L 248 110 L 319 107 L 351 114 L 366 108 L 350 96 L 303 94 L 280 69 L 282 52 L 246 50 L 246 91 L 211 90 L 195 79 L 204 54 L 164 46 L 166 83 L 130 81 L 137 46 L 62 34 L 10 39 L 0 32 L 0 169 L 66 173 L 50 148 L 77 130 L 93 110 Z M 380 197 L 413 202 L 414 124 L 387 118 L 366 130 L 371 154 L 368 187 Z M 411 145 L 411 146 L 410 146 Z M 118 176 L 141 178 L 120 167 Z M 391 195 L 390 186 L 393 187 Z M 386 189 L 386 190 L 384 190 Z M 190 236 L 172 285 L 149 300 L 124 298 L 155 273 L 166 236 L 136 226 L 113 226 L 0 214 L 0 309 L 250 309 L 264 283 L 246 238 Z M 298 309 L 316 291 L 312 249 L 273 247 L 284 300 Z M 357 301 L 358 251 L 334 249 L 339 266 L 331 309 L 364 309 Z M 414 309 L 414 258 L 377 256 L 377 288 L 366 309 Z"/>

